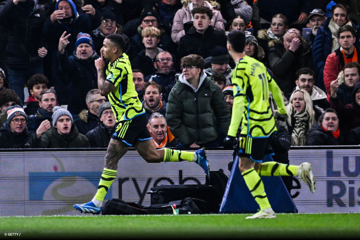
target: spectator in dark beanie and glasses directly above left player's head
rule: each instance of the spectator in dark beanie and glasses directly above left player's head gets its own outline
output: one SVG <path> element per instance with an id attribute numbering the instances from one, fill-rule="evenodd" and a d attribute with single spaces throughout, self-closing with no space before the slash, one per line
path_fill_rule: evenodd
<path id="1" fill-rule="evenodd" d="M 106 0 L 108 1 L 108 0 Z M 113 0 L 111 0 L 113 1 Z M 97 1 L 96 1 L 97 2 Z M 94 40 L 94 50 L 100 54 L 100 49 L 103 47 L 104 39 L 109 34 L 120 34 L 125 40 L 124 52 L 129 55 L 130 39 L 125 34 L 122 34 L 122 27 L 120 26 L 116 14 L 111 8 L 103 8 L 101 11 L 101 23 L 98 28 L 91 32 L 91 37 Z"/>

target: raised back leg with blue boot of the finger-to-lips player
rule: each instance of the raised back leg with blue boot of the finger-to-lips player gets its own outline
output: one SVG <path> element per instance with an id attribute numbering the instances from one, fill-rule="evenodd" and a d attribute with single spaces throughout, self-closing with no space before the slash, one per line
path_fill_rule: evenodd
<path id="1" fill-rule="evenodd" d="M 138 141 L 134 147 L 148 163 L 190 161 L 199 164 L 205 170 L 205 173 L 209 174 L 209 166 L 203 149 L 195 152 L 170 148 L 156 149 L 152 140 Z"/>

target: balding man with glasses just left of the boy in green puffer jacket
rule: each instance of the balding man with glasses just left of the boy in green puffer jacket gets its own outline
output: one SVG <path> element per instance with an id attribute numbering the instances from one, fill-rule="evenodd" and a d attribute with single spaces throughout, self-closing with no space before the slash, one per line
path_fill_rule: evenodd
<path id="1" fill-rule="evenodd" d="M 161 51 L 156 55 L 154 61 L 156 72 L 153 75 L 145 77 L 145 82 L 154 81 L 161 86 L 162 99 L 167 102 L 167 98 L 173 86 L 176 83 L 176 77 L 179 73 L 174 70 L 174 59 L 167 51 Z"/>

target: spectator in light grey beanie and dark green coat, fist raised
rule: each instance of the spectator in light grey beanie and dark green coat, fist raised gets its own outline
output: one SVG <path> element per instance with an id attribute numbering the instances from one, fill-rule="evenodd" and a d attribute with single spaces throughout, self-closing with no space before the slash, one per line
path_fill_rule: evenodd
<path id="1" fill-rule="evenodd" d="M 49 131 L 35 138 L 34 148 L 85 148 L 89 139 L 77 131 L 71 113 L 59 106 L 53 108 L 53 126 Z"/>

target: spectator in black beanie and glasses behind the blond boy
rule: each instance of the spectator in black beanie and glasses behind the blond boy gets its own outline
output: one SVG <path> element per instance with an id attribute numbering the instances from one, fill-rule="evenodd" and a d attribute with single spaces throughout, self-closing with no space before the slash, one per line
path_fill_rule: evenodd
<path id="1" fill-rule="evenodd" d="M 171 37 L 161 28 L 160 18 L 156 11 L 153 9 L 144 9 L 143 13 L 140 16 L 141 23 L 138 26 L 138 34 L 130 38 L 131 44 L 131 54 L 129 55 L 130 60 L 132 60 L 136 55 L 144 49 L 143 37 L 141 32 L 144 28 L 153 26 L 160 30 L 160 37 L 158 48 L 166 50 L 170 53 L 176 52 L 176 44 L 171 41 Z"/>

